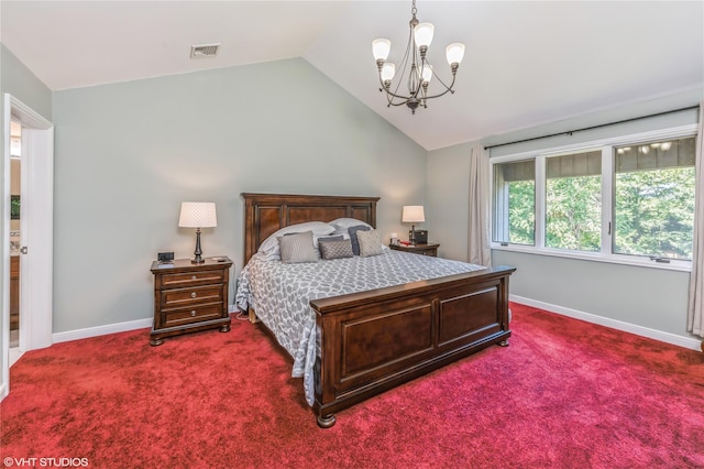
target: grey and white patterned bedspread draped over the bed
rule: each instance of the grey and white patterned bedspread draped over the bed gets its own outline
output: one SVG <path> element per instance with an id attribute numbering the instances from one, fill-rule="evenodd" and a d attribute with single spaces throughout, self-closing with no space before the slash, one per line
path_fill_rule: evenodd
<path id="1" fill-rule="evenodd" d="M 311 299 L 338 296 L 419 280 L 473 272 L 482 265 L 385 249 L 382 255 L 317 263 L 285 264 L 254 254 L 238 279 L 235 304 L 251 306 L 294 358 L 294 378 L 304 378 L 314 404 L 316 315 Z"/>

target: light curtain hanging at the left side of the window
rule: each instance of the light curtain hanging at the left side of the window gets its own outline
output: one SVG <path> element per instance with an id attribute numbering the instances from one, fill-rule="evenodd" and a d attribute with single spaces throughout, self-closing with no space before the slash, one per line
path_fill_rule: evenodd
<path id="1" fill-rule="evenodd" d="M 488 208 L 491 203 L 488 179 L 488 151 L 479 142 L 470 149 L 470 226 L 469 226 L 469 262 L 490 266 L 492 250 L 490 248 Z"/>

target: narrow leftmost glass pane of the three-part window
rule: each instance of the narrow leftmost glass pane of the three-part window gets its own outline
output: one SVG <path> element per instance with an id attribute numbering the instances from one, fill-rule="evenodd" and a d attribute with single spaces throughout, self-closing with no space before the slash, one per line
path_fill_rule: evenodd
<path id="1" fill-rule="evenodd" d="M 536 164 L 532 160 L 494 165 L 494 241 L 536 242 Z"/>

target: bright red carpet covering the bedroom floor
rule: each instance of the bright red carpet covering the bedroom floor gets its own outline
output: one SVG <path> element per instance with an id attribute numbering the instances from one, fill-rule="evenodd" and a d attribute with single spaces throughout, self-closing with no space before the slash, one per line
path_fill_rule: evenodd
<path id="1" fill-rule="evenodd" d="M 704 467 L 702 353 L 512 309 L 510 347 L 491 347 L 340 412 L 326 430 L 306 406 L 300 380 L 289 378 L 288 358 L 249 323 L 155 348 L 145 329 L 57 343 L 11 369 L 11 393 L 0 406 L 1 460 L 18 467 L 20 458 L 86 458 L 91 468 Z"/>

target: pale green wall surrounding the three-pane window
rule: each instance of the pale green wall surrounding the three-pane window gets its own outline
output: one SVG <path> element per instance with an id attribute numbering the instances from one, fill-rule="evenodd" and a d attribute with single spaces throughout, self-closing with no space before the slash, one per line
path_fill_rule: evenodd
<path id="1" fill-rule="evenodd" d="M 485 139 L 483 143 L 510 142 L 696 106 L 703 97 L 702 88 L 693 88 L 628 107 L 495 135 Z M 572 137 L 504 146 L 493 150 L 492 156 L 691 124 L 696 123 L 696 120 L 695 110 L 685 111 L 588 132 L 578 132 Z M 468 218 L 465 212 L 469 210 L 469 188 L 465 178 L 458 178 L 455 173 L 469 172 L 470 146 L 470 143 L 460 144 L 429 152 L 428 155 L 428 199 L 430 201 L 428 211 L 435 214 L 446 210 L 442 223 L 433 223 L 430 227 L 432 238 L 442 244 L 443 257 L 460 260 L 466 260 Z M 458 242 L 458 239 L 462 242 Z M 443 250 L 443 247 L 447 249 Z M 510 280 L 513 295 L 684 338 L 693 337 L 686 332 L 688 272 L 499 250 L 493 250 L 492 260 L 494 265 L 507 264 L 518 269 Z"/>

